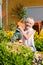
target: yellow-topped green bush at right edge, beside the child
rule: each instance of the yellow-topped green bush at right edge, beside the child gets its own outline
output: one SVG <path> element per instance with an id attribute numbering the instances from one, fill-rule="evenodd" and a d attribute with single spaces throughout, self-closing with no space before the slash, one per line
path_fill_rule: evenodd
<path id="1" fill-rule="evenodd" d="M 40 31 L 40 34 L 38 35 L 38 32 L 35 33 L 35 46 L 38 51 L 43 51 L 43 30 Z"/>

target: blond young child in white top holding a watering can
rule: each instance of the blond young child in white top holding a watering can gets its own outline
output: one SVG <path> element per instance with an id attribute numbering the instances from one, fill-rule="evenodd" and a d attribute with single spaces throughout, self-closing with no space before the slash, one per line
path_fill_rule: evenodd
<path id="1" fill-rule="evenodd" d="M 21 26 L 19 26 L 18 28 L 20 29 L 20 31 L 23 34 L 23 37 L 22 37 L 23 44 L 26 46 L 30 46 L 31 49 L 34 52 L 36 52 L 36 48 L 34 45 L 34 33 L 35 33 L 35 31 L 32 28 L 33 25 L 34 25 L 33 18 L 27 18 L 25 21 L 25 30 L 23 30 Z"/>

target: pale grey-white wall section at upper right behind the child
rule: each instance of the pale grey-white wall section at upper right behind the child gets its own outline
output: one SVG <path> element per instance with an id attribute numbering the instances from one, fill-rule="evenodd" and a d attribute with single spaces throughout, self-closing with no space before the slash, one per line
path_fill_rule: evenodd
<path id="1" fill-rule="evenodd" d="M 26 9 L 27 9 L 26 17 L 33 17 L 35 20 L 39 21 L 43 20 L 43 6 L 26 7 Z"/>

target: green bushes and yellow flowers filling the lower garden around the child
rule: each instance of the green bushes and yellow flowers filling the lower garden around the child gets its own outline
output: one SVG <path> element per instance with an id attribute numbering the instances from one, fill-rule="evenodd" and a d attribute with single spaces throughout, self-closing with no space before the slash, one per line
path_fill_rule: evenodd
<path id="1" fill-rule="evenodd" d="M 35 58 L 34 52 L 29 47 L 19 43 L 18 40 L 12 42 L 13 36 L 15 36 L 14 31 L 4 31 L 0 28 L 0 65 L 32 65 Z M 19 39 L 21 38 L 19 37 Z M 35 32 L 34 42 L 37 54 L 42 54 L 42 58 L 34 62 L 43 65 L 43 30 L 40 34 Z M 33 65 L 36 64 L 33 63 Z"/>

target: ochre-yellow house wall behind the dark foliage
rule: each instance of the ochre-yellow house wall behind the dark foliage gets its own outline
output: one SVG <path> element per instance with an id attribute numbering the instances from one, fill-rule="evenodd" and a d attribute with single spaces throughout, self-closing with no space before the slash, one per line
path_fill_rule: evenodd
<path id="1" fill-rule="evenodd" d="M 23 4 L 24 7 L 29 7 L 29 6 L 43 6 L 43 0 L 8 0 L 8 24 L 12 22 L 17 22 L 19 21 L 18 18 L 12 17 L 11 16 L 11 8 L 16 7 L 19 3 Z M 3 9 L 6 10 L 6 0 L 3 0 Z M 6 17 L 3 18 L 3 22 L 5 25 L 5 28 L 7 27 L 6 25 Z M 8 28 L 8 27 L 7 27 Z"/>

